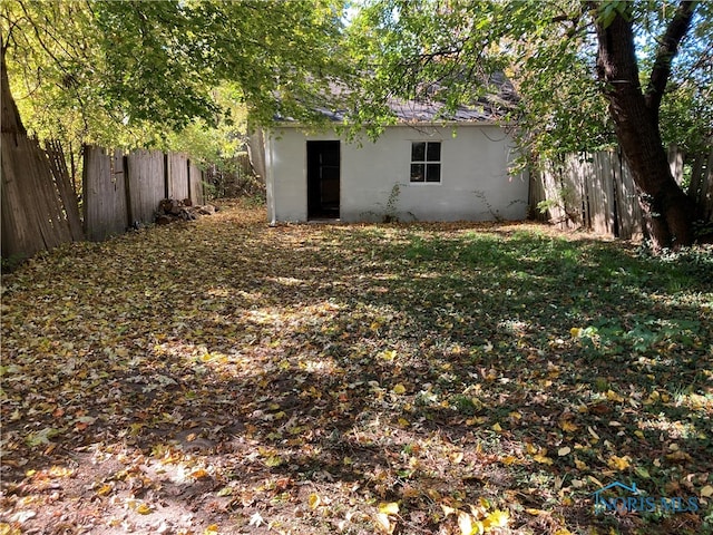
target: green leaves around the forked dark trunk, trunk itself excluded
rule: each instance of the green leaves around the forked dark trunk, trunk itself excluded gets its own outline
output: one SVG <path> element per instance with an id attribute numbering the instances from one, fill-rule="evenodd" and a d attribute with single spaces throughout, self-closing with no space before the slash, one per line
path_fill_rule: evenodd
<path id="1" fill-rule="evenodd" d="M 492 90 L 487 75 L 500 70 L 520 97 L 511 118 L 529 148 L 548 155 L 612 146 L 616 137 L 596 72 L 594 22 L 616 13 L 621 3 L 604 2 L 608 11 L 597 14 L 573 0 L 362 2 L 350 27 L 351 42 L 361 68 L 373 72 L 363 89 L 377 97 L 362 116 L 381 119 L 388 110 L 378 104 L 387 95 L 438 98 L 451 106 L 475 101 Z M 645 86 L 674 8 L 624 3 L 632 4 Z M 713 134 L 712 11 L 710 4 L 699 7 L 662 103 L 665 140 L 691 150 L 710 145 Z"/>

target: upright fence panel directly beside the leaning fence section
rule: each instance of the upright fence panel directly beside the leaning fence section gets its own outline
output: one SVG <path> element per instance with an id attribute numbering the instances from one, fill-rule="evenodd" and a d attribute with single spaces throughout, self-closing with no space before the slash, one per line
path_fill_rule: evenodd
<path id="1" fill-rule="evenodd" d="M 126 174 L 120 150 L 85 147 L 84 212 L 87 237 L 94 241 L 120 234 L 129 226 Z"/>

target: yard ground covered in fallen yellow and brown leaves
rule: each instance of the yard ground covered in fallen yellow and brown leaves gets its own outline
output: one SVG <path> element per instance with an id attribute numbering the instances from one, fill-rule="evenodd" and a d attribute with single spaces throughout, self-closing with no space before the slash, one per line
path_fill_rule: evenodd
<path id="1" fill-rule="evenodd" d="M 3 276 L 0 533 L 712 533 L 710 250 L 264 222 Z"/>

